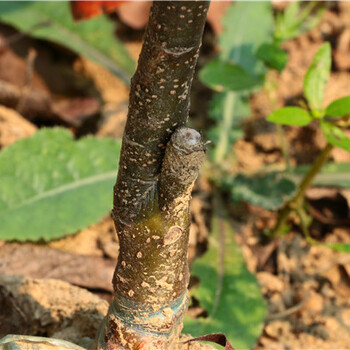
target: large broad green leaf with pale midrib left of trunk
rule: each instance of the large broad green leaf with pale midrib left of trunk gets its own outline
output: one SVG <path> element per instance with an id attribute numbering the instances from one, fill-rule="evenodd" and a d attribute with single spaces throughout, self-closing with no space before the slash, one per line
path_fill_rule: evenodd
<path id="1" fill-rule="evenodd" d="M 42 129 L 0 152 L 0 239 L 50 240 L 112 207 L 120 142 Z"/>

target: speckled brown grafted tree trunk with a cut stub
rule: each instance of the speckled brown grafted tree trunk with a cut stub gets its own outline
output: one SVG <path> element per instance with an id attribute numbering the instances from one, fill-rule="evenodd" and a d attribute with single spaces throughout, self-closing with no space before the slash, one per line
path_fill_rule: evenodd
<path id="1" fill-rule="evenodd" d="M 190 195 L 204 159 L 200 134 L 184 125 L 208 7 L 151 9 L 114 188 L 120 254 L 99 349 L 176 349 L 188 306 Z"/>

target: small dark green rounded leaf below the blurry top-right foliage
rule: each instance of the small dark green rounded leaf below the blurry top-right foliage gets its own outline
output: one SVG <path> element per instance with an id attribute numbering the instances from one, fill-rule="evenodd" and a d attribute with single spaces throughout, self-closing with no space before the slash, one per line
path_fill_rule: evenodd
<path id="1" fill-rule="evenodd" d="M 256 57 L 262 60 L 269 68 L 282 72 L 288 61 L 288 53 L 276 44 L 262 44 Z"/>

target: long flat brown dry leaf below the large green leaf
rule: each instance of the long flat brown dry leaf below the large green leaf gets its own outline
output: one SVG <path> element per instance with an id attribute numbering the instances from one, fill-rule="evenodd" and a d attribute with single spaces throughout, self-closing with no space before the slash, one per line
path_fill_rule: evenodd
<path id="1" fill-rule="evenodd" d="M 0 273 L 55 278 L 76 286 L 112 292 L 116 261 L 75 255 L 46 246 L 6 243 L 0 247 Z"/>

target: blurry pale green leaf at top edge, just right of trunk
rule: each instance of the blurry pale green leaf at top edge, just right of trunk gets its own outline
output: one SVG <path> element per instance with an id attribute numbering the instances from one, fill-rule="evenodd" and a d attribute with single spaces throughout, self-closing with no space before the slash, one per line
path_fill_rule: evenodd
<path id="1" fill-rule="evenodd" d="M 252 75 L 264 73 L 257 49 L 273 36 L 273 10 L 269 1 L 237 1 L 226 10 L 219 37 L 220 59 L 231 61 Z M 258 25 L 252 25 L 252 24 Z"/>

